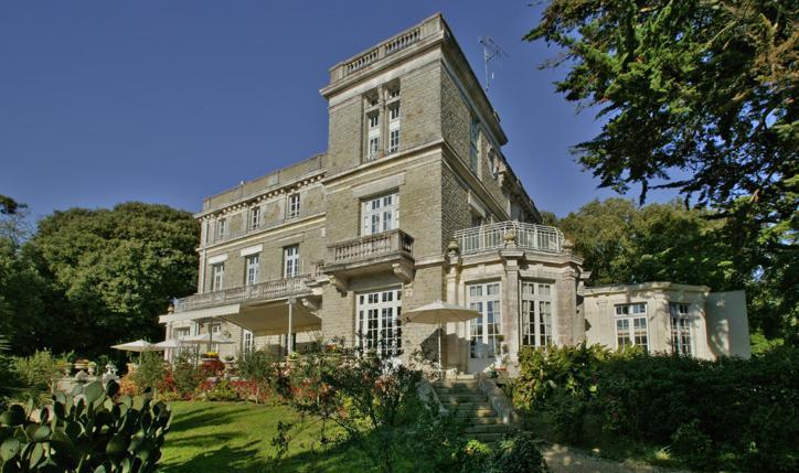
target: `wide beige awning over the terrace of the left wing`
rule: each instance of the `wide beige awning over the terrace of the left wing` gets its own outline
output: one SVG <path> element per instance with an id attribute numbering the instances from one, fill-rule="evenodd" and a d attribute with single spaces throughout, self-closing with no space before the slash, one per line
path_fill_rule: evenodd
<path id="1" fill-rule="evenodd" d="M 228 322 L 253 332 L 256 336 L 288 333 L 289 304 L 292 332 L 312 332 L 322 329 L 322 320 L 302 304 L 271 302 L 243 307 L 238 313 L 221 316 Z"/>

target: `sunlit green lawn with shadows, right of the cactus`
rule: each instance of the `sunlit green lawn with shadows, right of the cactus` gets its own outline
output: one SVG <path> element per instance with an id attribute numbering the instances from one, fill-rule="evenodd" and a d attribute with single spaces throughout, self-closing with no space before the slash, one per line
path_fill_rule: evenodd
<path id="1" fill-rule="evenodd" d="M 164 473 L 370 471 L 354 448 L 320 450 L 317 424 L 297 436 L 280 465 L 271 463 L 277 422 L 296 420 L 286 407 L 192 401 L 172 408 L 160 462 Z"/>

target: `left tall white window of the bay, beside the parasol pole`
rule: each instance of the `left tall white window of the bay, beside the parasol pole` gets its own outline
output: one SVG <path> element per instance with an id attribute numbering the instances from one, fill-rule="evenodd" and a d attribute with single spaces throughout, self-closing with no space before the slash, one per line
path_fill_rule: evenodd
<path id="1" fill-rule="evenodd" d="M 467 287 L 469 308 L 480 312 L 480 316 L 469 321 L 471 357 L 484 358 L 500 353 L 500 327 L 502 310 L 500 283 L 489 282 Z"/>

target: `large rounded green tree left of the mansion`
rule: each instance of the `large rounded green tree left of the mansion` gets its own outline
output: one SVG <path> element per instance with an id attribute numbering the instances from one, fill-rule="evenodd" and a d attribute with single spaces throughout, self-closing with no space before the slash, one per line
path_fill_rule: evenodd
<path id="1" fill-rule="evenodd" d="M 124 340 L 161 337 L 157 316 L 172 298 L 194 292 L 198 240 L 192 215 L 164 205 L 73 208 L 43 218 L 22 258 L 46 282 L 44 307 L 32 319 L 47 330 L 33 340 L 18 333 L 12 345 L 92 355 Z"/>

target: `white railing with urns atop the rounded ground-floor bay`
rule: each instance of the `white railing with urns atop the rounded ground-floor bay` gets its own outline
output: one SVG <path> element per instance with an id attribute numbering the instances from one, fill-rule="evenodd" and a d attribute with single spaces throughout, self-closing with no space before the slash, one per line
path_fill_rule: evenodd
<path id="1" fill-rule="evenodd" d="M 563 233 L 555 227 L 520 222 L 500 222 L 455 233 L 462 255 L 504 248 L 511 243 L 521 249 L 563 252 Z"/>

